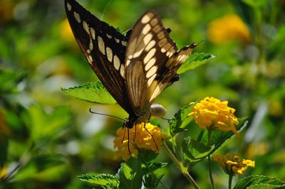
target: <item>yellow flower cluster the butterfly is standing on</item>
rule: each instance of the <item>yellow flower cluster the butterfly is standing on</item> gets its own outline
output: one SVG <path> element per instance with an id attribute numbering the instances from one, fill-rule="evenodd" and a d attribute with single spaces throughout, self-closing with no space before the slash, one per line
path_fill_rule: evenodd
<path id="1" fill-rule="evenodd" d="M 147 130 L 144 128 L 144 125 Z M 160 128 L 150 123 L 137 124 L 132 129 L 120 128 L 116 134 L 118 137 L 114 140 L 114 148 L 118 148 L 118 150 L 115 152 L 114 158 L 118 159 L 121 156 L 124 161 L 127 161 L 132 154 L 137 157 L 140 150 L 151 150 L 159 153 L 162 139 L 166 139 Z M 128 141 L 128 138 L 130 141 Z"/>

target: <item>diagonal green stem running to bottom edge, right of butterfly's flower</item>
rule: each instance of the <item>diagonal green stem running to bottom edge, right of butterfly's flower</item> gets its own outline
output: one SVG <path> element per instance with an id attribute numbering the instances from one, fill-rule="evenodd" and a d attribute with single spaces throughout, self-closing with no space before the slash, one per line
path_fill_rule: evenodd
<path id="1" fill-rule="evenodd" d="M 197 185 L 197 183 L 195 182 L 195 180 L 192 178 L 192 176 L 190 175 L 190 173 L 188 173 L 187 168 L 185 168 L 183 166 L 182 163 L 180 163 L 177 158 L 175 157 L 175 155 L 172 153 L 172 151 L 170 151 L 170 148 L 168 148 L 167 144 L 165 143 L 165 141 L 163 142 L 163 147 L 165 148 L 166 153 L 168 154 L 168 156 L 170 156 L 171 160 L 173 161 L 173 163 L 175 163 L 175 166 L 177 166 L 177 168 L 181 171 L 181 173 L 187 178 L 187 180 L 192 183 L 192 185 L 194 186 L 194 188 L 199 189 L 199 186 Z"/>

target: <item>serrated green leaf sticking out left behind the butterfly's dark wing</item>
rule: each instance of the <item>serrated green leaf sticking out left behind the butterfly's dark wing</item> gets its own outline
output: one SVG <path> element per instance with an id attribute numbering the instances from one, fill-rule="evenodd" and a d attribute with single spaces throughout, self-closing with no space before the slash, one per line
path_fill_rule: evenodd
<path id="1" fill-rule="evenodd" d="M 105 89 L 100 81 L 88 82 L 78 87 L 61 89 L 66 94 L 88 102 L 98 104 L 116 104 L 115 99 Z"/>

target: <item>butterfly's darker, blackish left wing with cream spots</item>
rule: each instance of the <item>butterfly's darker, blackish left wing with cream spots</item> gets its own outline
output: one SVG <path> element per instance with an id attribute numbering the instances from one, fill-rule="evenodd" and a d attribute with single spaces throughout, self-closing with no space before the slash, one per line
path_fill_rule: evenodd
<path id="1" fill-rule="evenodd" d="M 123 36 L 74 0 L 66 0 L 66 15 L 89 65 L 108 92 L 126 112 L 133 111 L 125 87 L 125 48 L 131 31 Z"/>

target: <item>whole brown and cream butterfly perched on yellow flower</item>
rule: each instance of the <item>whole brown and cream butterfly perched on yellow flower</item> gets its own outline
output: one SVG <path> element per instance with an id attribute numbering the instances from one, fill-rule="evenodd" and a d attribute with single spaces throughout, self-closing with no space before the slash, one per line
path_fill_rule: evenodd
<path id="1" fill-rule="evenodd" d="M 165 109 L 152 104 L 160 92 L 179 80 L 180 65 L 193 48 L 181 50 L 169 36 L 155 11 L 145 12 L 125 35 L 100 21 L 75 0 L 65 0 L 73 34 L 90 67 L 129 117 L 124 126 L 163 116 Z"/>

